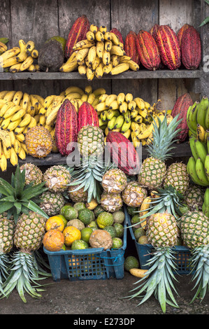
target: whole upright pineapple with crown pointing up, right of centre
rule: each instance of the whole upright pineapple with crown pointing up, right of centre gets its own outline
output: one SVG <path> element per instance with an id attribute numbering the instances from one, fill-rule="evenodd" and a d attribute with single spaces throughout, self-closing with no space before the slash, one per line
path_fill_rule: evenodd
<path id="1" fill-rule="evenodd" d="M 162 121 L 158 117 L 157 120 L 158 125 L 154 122 L 153 141 L 147 145 L 149 157 L 143 161 L 138 174 L 138 183 L 149 190 L 161 187 L 166 176 L 165 161 L 171 157 L 173 138 L 180 131 L 176 130 L 179 124 L 178 116 L 175 116 L 169 125 L 166 116 Z"/>

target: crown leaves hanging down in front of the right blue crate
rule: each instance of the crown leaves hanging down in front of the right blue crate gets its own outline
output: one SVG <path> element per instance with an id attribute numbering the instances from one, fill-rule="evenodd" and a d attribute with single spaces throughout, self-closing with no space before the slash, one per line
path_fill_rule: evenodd
<path id="1" fill-rule="evenodd" d="M 173 281 L 177 281 L 173 272 L 175 271 L 175 251 L 167 247 L 157 247 L 154 253 L 152 253 L 152 258 L 147 260 L 147 265 L 149 269 L 145 273 L 145 277 L 139 279 L 134 284 L 141 283 L 132 291 L 138 290 L 133 295 L 126 298 L 140 297 L 141 293 L 145 292 L 140 304 L 143 304 L 153 293 L 154 296 L 159 300 L 161 309 L 166 313 L 166 303 L 172 307 L 178 307 L 175 297 L 173 296 L 172 288 L 175 290 Z M 177 293 L 178 295 L 178 293 Z M 168 299 L 170 297 L 170 300 Z"/>

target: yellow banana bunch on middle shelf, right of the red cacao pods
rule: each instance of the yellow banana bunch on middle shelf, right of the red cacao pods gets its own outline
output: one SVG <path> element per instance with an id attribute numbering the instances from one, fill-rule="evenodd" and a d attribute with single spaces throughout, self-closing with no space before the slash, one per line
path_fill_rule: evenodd
<path id="1" fill-rule="evenodd" d="M 101 94 L 99 103 L 94 107 L 99 115 L 99 126 L 107 135 L 110 130 L 121 132 L 131 139 L 134 147 L 152 142 L 153 119 L 163 120 L 165 111 L 156 109 L 140 97 L 131 93 Z M 168 123 L 173 119 L 167 114 Z M 158 121 L 156 120 L 156 123 Z"/>

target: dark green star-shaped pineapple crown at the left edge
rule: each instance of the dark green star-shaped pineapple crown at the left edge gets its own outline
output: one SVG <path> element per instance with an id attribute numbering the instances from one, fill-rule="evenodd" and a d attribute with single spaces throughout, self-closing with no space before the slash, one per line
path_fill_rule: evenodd
<path id="1" fill-rule="evenodd" d="M 11 183 L 0 178 L 0 214 L 8 212 L 8 219 L 14 216 L 15 223 L 21 213 L 28 214 L 29 210 L 48 218 L 48 215 L 38 207 L 34 198 L 41 195 L 48 188 L 43 188 L 45 182 L 36 186 L 33 183 L 25 185 L 25 169 L 21 172 L 17 165 L 15 174 L 12 174 Z"/>

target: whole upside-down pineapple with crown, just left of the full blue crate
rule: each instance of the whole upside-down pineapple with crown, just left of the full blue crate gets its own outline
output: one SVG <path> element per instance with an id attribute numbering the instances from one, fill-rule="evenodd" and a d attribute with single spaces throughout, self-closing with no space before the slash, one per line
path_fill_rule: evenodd
<path id="1" fill-rule="evenodd" d="M 45 273 L 38 267 L 34 253 L 40 248 L 44 233 L 45 217 L 29 211 L 18 218 L 14 233 L 17 251 L 11 256 L 11 274 L 3 283 L 4 297 L 8 297 L 15 287 L 23 302 L 27 302 L 24 291 L 32 297 L 41 297 L 38 293 L 41 288 L 37 288 L 41 285 L 36 281 Z M 36 283 L 36 286 L 31 286 L 31 283 Z"/>

